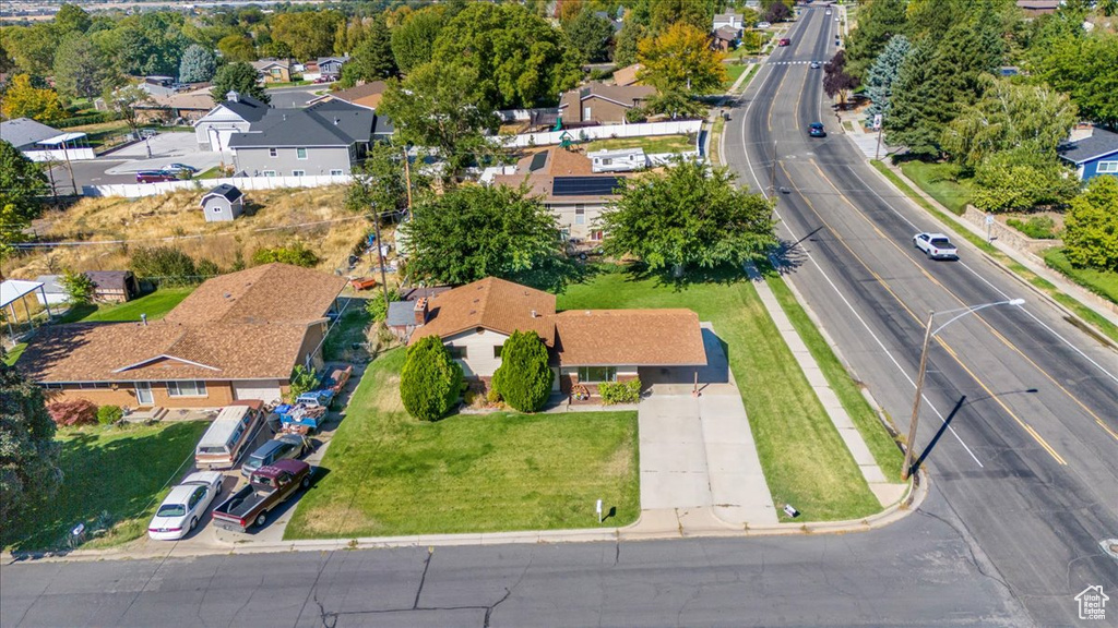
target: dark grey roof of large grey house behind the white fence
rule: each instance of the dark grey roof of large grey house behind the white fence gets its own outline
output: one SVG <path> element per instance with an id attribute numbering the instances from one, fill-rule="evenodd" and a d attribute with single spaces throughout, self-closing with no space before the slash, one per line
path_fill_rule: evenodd
<path id="1" fill-rule="evenodd" d="M 305 110 L 268 110 L 248 133 L 234 133 L 229 148 L 349 146 L 372 139 L 376 114 L 340 101 Z"/>

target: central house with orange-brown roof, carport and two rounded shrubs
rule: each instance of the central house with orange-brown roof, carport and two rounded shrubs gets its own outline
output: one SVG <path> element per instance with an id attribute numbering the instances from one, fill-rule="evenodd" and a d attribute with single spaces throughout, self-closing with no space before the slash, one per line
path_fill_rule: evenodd
<path id="1" fill-rule="evenodd" d="M 408 342 L 439 336 L 479 388 L 489 386 L 504 341 L 518 330 L 536 332 L 547 345 L 557 392 L 582 384 L 594 394 L 599 383 L 632 380 L 642 369 L 707 364 L 690 310 L 556 312 L 555 295 L 495 277 L 420 298 L 413 310 Z"/>

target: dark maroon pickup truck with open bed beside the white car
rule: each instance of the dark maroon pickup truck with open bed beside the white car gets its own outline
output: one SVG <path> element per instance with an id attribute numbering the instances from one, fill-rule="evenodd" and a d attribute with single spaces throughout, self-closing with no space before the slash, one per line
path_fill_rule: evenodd
<path id="1" fill-rule="evenodd" d="M 276 460 L 256 469 L 247 486 L 214 508 L 214 524 L 234 532 L 245 532 L 253 525 L 263 527 L 272 508 L 310 485 L 311 465 L 303 460 Z"/>

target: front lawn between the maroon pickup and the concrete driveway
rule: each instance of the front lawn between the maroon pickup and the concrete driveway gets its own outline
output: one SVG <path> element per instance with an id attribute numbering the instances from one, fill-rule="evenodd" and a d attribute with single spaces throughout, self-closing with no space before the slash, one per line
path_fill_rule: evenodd
<path id="1" fill-rule="evenodd" d="M 369 365 L 285 539 L 595 527 L 639 514 L 636 412 L 417 421 L 397 387 L 402 349 Z"/>

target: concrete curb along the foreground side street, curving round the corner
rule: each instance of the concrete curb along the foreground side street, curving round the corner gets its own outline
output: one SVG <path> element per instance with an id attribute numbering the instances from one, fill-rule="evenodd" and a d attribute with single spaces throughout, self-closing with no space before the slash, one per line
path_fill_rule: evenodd
<path id="1" fill-rule="evenodd" d="M 89 562 L 102 560 L 145 560 L 145 559 L 189 559 L 208 555 L 237 555 L 276 552 L 333 552 L 338 550 L 371 550 L 392 548 L 453 548 L 504 544 L 558 544 L 588 542 L 639 542 L 663 541 L 672 539 L 713 539 L 713 537 L 749 537 L 749 536 L 787 536 L 794 534 L 850 534 L 878 530 L 896 523 L 918 508 L 929 494 L 929 479 L 920 472 L 919 479 L 910 482 L 900 501 L 880 513 L 861 520 L 817 522 L 817 523 L 778 523 L 775 525 L 750 526 L 746 524 L 738 529 L 730 525 L 697 526 L 678 530 L 641 530 L 641 520 L 625 527 L 587 529 L 587 530 L 551 530 L 539 532 L 493 532 L 476 534 L 418 534 L 406 536 L 381 536 L 366 539 L 330 539 L 322 541 L 284 541 L 275 543 L 230 543 L 221 546 L 191 548 L 189 551 L 178 551 L 172 545 L 167 551 L 148 554 L 129 553 L 125 549 L 113 550 L 77 550 L 69 553 L 12 553 L 3 552 L 0 561 L 12 564 L 23 561 L 49 562 Z"/>

